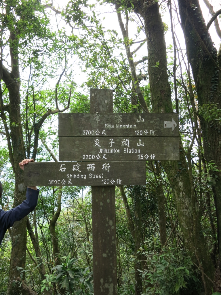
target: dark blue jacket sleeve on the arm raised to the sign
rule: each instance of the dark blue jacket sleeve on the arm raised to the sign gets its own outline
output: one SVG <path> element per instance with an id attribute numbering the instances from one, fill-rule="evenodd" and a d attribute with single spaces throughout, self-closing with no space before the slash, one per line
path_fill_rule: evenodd
<path id="1" fill-rule="evenodd" d="M 34 210 L 38 202 L 39 190 L 27 188 L 26 200 L 19 206 L 5 212 L 1 212 L 0 224 L 7 230 L 15 221 L 20 221 Z"/>

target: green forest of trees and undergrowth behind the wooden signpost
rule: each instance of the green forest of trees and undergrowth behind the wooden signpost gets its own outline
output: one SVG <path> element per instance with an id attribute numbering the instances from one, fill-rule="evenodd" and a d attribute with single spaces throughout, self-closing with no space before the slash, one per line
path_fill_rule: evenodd
<path id="1" fill-rule="evenodd" d="M 113 89 L 114 112 L 179 112 L 180 161 L 147 161 L 145 186 L 116 187 L 118 293 L 220 294 L 221 51 L 207 31 L 194 39 L 200 24 L 187 36 L 182 9 L 187 26 L 195 14 L 203 23 L 198 0 L 158 2 L 0 2 L 1 207 L 25 199 L 23 158 L 57 160 L 57 114 L 90 112 L 90 88 Z M 118 14 L 118 30 L 100 10 Z M 23 284 L 93 294 L 90 187 L 39 189 L 37 208 L 0 246 L 0 295 L 26 294 Z"/>

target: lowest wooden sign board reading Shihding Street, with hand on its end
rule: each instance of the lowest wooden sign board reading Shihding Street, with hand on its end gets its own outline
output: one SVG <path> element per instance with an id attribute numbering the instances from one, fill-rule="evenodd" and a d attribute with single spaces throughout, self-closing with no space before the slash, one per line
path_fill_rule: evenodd
<path id="1" fill-rule="evenodd" d="M 24 186 L 104 186 L 146 184 L 146 162 L 30 162 Z"/>

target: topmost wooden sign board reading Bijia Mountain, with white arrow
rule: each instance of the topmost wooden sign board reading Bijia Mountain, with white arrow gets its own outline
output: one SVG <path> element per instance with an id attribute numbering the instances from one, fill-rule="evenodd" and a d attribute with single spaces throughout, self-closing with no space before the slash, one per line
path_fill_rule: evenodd
<path id="1" fill-rule="evenodd" d="M 177 124 L 174 130 L 164 122 Z M 179 136 L 179 116 L 170 113 L 60 113 L 59 137 Z"/>

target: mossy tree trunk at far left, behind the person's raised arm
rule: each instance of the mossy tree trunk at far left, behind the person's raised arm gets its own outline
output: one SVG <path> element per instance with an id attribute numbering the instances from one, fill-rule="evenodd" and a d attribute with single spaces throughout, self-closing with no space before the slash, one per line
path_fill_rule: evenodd
<path id="1" fill-rule="evenodd" d="M 22 133 L 22 124 L 20 116 L 20 75 L 19 75 L 19 64 L 18 64 L 18 51 L 16 44 L 16 37 L 14 33 L 10 34 L 9 39 L 11 55 L 11 73 L 4 68 L 1 60 L 1 74 L 4 83 L 9 91 L 9 106 L 7 107 L 7 112 L 9 113 L 9 124 L 10 124 L 10 135 L 8 122 L 4 122 L 8 148 L 9 157 L 11 165 L 15 173 L 15 190 L 14 190 L 14 204 L 13 207 L 18 206 L 26 199 L 26 188 L 23 185 L 23 171 L 19 168 L 19 162 L 26 158 L 24 140 Z M 1 97 L 1 118 L 4 120 L 4 103 Z M 26 260 L 26 244 L 27 244 L 27 230 L 26 230 L 26 219 L 21 221 L 16 221 L 12 227 L 12 250 L 10 259 L 10 270 L 9 270 L 9 282 L 7 295 L 17 295 L 19 286 L 16 284 L 12 286 L 13 281 L 20 276 L 20 271 L 17 271 L 17 267 L 25 268 Z"/>

